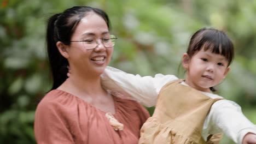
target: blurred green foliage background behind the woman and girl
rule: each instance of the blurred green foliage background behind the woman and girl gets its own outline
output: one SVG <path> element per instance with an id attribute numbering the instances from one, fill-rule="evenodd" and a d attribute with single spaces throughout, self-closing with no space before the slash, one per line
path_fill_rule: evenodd
<path id="1" fill-rule="evenodd" d="M 51 87 L 46 20 L 74 5 L 108 13 L 118 37 L 110 65 L 133 74 L 183 78 L 178 66 L 191 34 L 201 27 L 224 29 L 236 55 L 218 94 L 240 104 L 256 123 L 256 1 L 0 0 L 0 143 L 36 143 L 34 111 Z M 222 143 L 234 142 L 224 137 Z"/>

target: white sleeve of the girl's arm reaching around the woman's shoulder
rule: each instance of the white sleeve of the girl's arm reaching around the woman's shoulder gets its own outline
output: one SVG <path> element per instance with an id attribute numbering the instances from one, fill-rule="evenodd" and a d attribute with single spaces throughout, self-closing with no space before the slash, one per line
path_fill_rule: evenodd
<path id="1" fill-rule="evenodd" d="M 155 106 L 158 94 L 166 83 L 178 79 L 174 75 L 156 74 L 152 76 L 140 76 L 127 74 L 124 71 L 107 67 L 101 75 L 104 88 L 120 92 L 123 98 L 136 100 L 146 106 Z"/>

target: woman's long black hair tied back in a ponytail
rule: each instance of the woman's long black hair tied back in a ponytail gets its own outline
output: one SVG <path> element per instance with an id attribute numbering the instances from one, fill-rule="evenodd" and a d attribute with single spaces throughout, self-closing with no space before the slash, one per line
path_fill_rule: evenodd
<path id="1" fill-rule="evenodd" d="M 63 13 L 55 14 L 49 18 L 46 42 L 51 73 L 53 75 L 53 87 L 51 89 L 59 87 L 67 79 L 68 72 L 68 61 L 57 49 L 57 41 L 69 45 L 72 34 L 78 26 L 78 23 L 86 14 L 91 12 L 101 16 L 106 21 L 108 29 L 110 29 L 108 15 L 98 8 L 86 6 L 72 7 L 66 9 Z"/>

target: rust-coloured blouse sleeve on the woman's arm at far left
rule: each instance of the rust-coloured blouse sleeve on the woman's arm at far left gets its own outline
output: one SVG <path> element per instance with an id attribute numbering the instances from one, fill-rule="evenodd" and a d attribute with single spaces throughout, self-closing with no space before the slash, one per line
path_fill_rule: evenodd
<path id="1" fill-rule="evenodd" d="M 67 127 L 58 105 L 39 103 L 34 121 L 34 133 L 38 144 L 74 144 Z"/>

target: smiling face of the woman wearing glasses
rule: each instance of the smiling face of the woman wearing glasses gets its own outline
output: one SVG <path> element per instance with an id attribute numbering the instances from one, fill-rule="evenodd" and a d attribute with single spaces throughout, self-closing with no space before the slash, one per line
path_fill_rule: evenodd
<path id="1" fill-rule="evenodd" d="M 67 52 L 72 74 L 100 75 L 108 65 L 113 52 L 112 47 L 105 47 L 101 39 L 109 35 L 106 21 L 95 13 L 89 13 L 78 24 L 71 41 L 97 39 L 95 49 L 86 49 L 83 42 L 71 42 Z"/>

